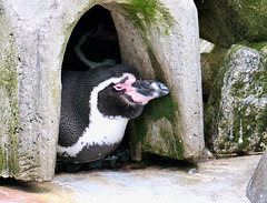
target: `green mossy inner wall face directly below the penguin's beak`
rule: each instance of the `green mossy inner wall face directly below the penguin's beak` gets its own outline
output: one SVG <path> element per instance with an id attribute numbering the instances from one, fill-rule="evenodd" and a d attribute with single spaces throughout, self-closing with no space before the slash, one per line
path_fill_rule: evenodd
<path id="1" fill-rule="evenodd" d="M 151 101 L 144 113 L 130 122 L 134 158 L 144 152 L 182 160 L 184 146 L 177 134 L 178 105 L 170 95 Z M 179 129 L 182 132 L 181 128 Z"/>

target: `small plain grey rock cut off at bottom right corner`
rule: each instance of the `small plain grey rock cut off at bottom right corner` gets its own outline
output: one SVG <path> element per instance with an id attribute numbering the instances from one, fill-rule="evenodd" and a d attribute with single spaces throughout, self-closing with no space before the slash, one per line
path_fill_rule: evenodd
<path id="1" fill-rule="evenodd" d="M 267 202 L 267 152 L 260 159 L 247 185 L 247 196 L 251 203 Z"/>

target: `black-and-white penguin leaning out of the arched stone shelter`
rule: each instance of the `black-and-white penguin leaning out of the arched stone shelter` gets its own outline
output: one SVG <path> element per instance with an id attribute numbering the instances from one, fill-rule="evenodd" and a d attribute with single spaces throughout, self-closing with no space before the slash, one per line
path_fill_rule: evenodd
<path id="1" fill-rule="evenodd" d="M 166 84 L 142 80 L 127 64 L 63 71 L 58 161 L 87 163 L 110 154 L 128 121 L 150 100 L 168 93 Z"/>

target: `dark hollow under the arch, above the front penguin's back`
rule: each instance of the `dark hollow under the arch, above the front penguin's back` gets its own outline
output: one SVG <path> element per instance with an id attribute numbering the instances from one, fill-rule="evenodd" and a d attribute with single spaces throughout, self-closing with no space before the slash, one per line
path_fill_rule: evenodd
<path id="1" fill-rule="evenodd" d="M 62 70 L 86 71 L 120 62 L 119 40 L 110 11 L 95 6 L 80 18 L 70 35 Z"/>

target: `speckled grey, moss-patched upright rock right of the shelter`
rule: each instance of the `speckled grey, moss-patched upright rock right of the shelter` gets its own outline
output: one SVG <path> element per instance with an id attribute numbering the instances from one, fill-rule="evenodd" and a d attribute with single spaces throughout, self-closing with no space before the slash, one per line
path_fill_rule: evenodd
<path id="1" fill-rule="evenodd" d="M 216 78 L 205 114 L 205 135 L 215 153 L 263 151 L 267 144 L 267 57 L 233 45 Z"/>

